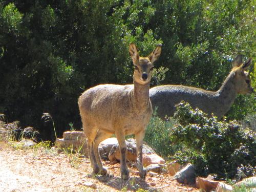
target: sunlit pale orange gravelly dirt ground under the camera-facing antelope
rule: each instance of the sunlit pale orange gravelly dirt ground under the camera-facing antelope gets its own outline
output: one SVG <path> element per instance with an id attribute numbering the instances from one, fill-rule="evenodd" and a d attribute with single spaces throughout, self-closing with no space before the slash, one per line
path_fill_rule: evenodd
<path id="1" fill-rule="evenodd" d="M 88 158 L 80 158 L 77 168 L 66 154 L 39 148 L 17 150 L 0 143 L 0 191 L 119 191 L 150 189 L 162 191 L 198 191 L 177 183 L 169 175 L 147 177 L 145 181 L 136 176 L 137 169 L 130 168 L 131 178 L 119 178 L 119 164 L 105 161 L 111 177 L 90 177 L 91 166 Z M 85 186 L 93 184 L 94 188 Z"/>

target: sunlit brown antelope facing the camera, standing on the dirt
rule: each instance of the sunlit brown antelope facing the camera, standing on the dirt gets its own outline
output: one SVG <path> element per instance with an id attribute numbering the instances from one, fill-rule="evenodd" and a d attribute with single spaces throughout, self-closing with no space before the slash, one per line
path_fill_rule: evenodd
<path id="1" fill-rule="evenodd" d="M 98 152 L 101 141 L 115 134 L 121 153 L 121 178 L 129 178 L 126 165 L 125 136 L 135 134 L 137 147 L 136 166 L 141 178 L 146 170 L 142 164 L 142 146 L 145 129 L 152 115 L 149 98 L 153 63 L 161 53 L 161 47 L 147 57 L 140 57 L 134 44 L 129 47 L 134 64 L 134 84 L 125 86 L 101 84 L 85 91 L 78 99 L 83 131 L 88 138 L 88 151 L 95 174 L 106 174 L 106 168 Z"/>

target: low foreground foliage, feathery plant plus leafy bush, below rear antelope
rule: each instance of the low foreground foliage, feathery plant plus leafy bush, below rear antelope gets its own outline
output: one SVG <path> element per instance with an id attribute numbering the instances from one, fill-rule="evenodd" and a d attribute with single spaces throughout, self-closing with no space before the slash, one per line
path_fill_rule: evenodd
<path id="1" fill-rule="evenodd" d="M 185 102 L 176 107 L 173 118 L 163 121 L 154 113 L 147 126 L 144 140 L 158 154 L 192 163 L 199 176 L 240 180 L 256 174 L 255 117 L 248 116 L 240 124 L 208 118 Z"/>

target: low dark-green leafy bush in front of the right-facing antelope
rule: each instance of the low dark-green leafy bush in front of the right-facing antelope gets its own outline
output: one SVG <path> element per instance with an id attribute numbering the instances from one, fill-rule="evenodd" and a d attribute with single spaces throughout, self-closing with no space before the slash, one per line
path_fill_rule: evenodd
<path id="1" fill-rule="evenodd" d="M 170 137 L 183 143 L 185 150 L 174 158 L 190 161 L 199 175 L 215 174 L 219 179 L 233 178 L 241 171 L 255 174 L 256 134 L 236 121 L 217 121 L 215 117 L 193 110 L 188 103 L 177 106 L 178 124 Z"/>

